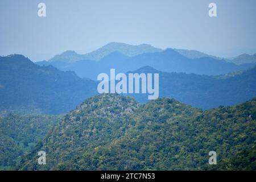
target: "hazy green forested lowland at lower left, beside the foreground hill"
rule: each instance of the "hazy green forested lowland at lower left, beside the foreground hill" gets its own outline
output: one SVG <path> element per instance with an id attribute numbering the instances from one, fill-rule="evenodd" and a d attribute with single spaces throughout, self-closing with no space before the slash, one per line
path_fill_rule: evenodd
<path id="1" fill-rule="evenodd" d="M 42 140 L 61 115 L 9 114 L 0 117 L 0 169 L 14 169 L 19 157 Z"/>

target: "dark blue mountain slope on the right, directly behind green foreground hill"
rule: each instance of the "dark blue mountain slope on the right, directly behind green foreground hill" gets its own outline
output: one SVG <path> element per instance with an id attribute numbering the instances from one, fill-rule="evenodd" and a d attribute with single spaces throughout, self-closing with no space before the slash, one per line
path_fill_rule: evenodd
<path id="1" fill-rule="evenodd" d="M 256 96 L 256 67 L 227 78 L 159 72 L 151 67 L 143 67 L 134 73 L 159 73 L 160 97 L 172 97 L 202 109 L 231 106 Z M 147 94 L 129 96 L 140 102 L 148 101 Z"/>

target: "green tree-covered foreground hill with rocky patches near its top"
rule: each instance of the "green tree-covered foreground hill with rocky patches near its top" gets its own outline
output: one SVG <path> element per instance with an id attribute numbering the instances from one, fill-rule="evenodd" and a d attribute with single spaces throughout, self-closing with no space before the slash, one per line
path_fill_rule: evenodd
<path id="1" fill-rule="evenodd" d="M 16 169 L 256 169 L 255 121 L 256 98 L 201 111 L 170 98 L 140 105 L 102 94 L 65 115 Z M 36 163 L 40 150 L 43 166 Z M 209 166 L 209 151 L 219 166 Z"/>

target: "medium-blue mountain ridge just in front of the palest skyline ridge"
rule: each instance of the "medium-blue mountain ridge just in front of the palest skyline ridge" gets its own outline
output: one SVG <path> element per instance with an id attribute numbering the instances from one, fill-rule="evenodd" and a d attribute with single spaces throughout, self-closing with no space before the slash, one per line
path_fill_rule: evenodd
<path id="1" fill-rule="evenodd" d="M 46 63 L 36 63 L 46 65 Z M 75 71 L 80 77 L 88 77 L 97 80 L 99 73 L 108 73 L 110 68 L 116 72 L 135 71 L 144 66 L 150 66 L 163 72 L 184 72 L 198 75 L 221 75 L 236 72 L 253 67 L 256 63 L 236 65 L 225 60 L 211 57 L 188 59 L 174 49 L 166 49 L 162 52 L 143 53 L 141 55 L 127 57 L 122 53 L 112 52 L 100 61 L 81 60 L 75 63 L 65 61 L 51 61 L 49 64 L 63 70 Z"/>

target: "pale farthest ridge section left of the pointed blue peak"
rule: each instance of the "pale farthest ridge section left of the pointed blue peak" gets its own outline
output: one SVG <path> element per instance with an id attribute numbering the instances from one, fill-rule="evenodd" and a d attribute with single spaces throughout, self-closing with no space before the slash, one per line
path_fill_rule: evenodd
<path id="1" fill-rule="evenodd" d="M 73 63 L 80 60 L 101 60 L 103 57 L 109 55 L 112 52 L 121 52 L 126 56 L 136 56 L 146 52 L 159 52 L 162 51 L 159 48 L 152 47 L 148 44 L 140 44 L 138 46 L 131 46 L 125 43 L 108 43 L 105 46 L 97 49 L 96 51 L 80 55 L 75 51 L 65 51 L 60 55 L 56 55 L 49 59 L 49 62 L 53 61 L 65 61 L 67 63 Z"/>

